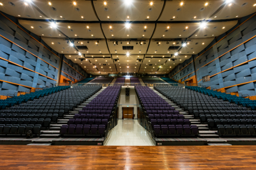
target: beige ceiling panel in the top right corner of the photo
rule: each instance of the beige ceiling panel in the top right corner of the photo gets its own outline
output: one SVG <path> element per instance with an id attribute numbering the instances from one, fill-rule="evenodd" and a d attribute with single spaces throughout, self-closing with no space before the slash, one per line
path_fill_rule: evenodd
<path id="1" fill-rule="evenodd" d="M 225 6 L 212 16 L 211 20 L 225 20 L 240 18 L 256 12 L 255 0 L 233 0 L 225 3 Z"/>

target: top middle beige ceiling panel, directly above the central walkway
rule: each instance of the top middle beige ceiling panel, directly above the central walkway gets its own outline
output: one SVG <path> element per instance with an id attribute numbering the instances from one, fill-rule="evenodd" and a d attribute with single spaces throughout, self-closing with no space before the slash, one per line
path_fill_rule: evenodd
<path id="1" fill-rule="evenodd" d="M 126 2 L 131 3 L 127 4 Z M 153 4 L 150 5 L 150 2 Z M 97 0 L 93 3 L 97 15 L 102 21 L 155 21 L 164 5 L 162 0 Z M 127 18 L 128 16 L 129 18 Z"/>

